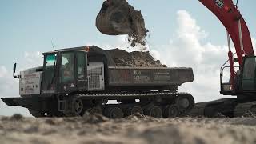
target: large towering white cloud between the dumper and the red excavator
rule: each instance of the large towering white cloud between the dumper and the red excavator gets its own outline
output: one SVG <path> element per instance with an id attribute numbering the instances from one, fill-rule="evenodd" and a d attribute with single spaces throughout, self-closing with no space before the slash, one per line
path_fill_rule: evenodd
<path id="1" fill-rule="evenodd" d="M 161 62 L 167 66 L 189 66 L 194 70 L 194 82 L 180 86 L 180 91 L 190 92 L 197 102 L 222 98 L 219 94 L 219 70 L 227 59 L 227 47 L 207 42 L 205 30 L 185 10 L 177 12 L 177 30 L 170 43 L 155 47 Z M 156 53 L 156 52 L 154 52 Z"/>

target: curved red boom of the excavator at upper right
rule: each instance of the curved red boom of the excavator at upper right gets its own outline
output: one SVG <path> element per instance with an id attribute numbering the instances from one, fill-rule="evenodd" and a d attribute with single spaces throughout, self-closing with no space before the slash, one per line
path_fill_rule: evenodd
<path id="1" fill-rule="evenodd" d="M 238 56 L 239 65 L 242 66 L 242 54 L 254 54 L 250 31 L 246 25 L 238 7 L 232 0 L 199 0 L 204 6 L 212 11 L 226 27 L 230 34 Z M 241 24 L 241 32 L 239 25 Z M 241 34 L 241 38 L 239 37 Z"/>

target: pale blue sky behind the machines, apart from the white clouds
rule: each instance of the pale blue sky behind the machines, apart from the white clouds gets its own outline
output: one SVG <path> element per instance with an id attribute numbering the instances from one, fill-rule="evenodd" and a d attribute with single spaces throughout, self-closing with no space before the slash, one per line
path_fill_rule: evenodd
<path id="1" fill-rule="evenodd" d="M 190 53 L 195 54 L 195 62 L 198 62 L 197 51 L 202 50 L 203 54 L 206 53 L 205 49 L 214 47 L 214 50 L 221 50 L 223 46 L 226 46 L 226 30 L 222 24 L 215 18 L 214 14 L 211 14 L 200 2 L 194 0 L 130 0 L 131 5 L 137 10 L 142 10 L 146 27 L 150 30 L 150 38 L 147 41 L 150 46 L 153 47 L 154 51 L 157 51 L 158 57 L 162 61 L 170 62 L 177 60 L 177 58 L 167 59 L 162 58 L 161 51 L 166 49 L 166 46 L 175 47 L 171 42 L 175 41 L 177 36 L 177 30 L 182 31 L 182 27 L 178 24 L 179 22 L 186 22 L 184 19 L 178 17 L 184 16 L 189 20 L 196 22 L 194 27 L 200 28 L 198 33 L 206 33 L 206 37 L 199 38 L 200 46 L 198 49 L 191 49 Z M 27 59 L 38 57 L 36 51 L 44 52 L 52 50 L 51 41 L 54 42 L 56 48 L 65 48 L 73 46 L 84 46 L 87 43 L 99 44 L 100 46 L 115 46 L 115 43 L 119 41 L 119 37 L 107 36 L 98 32 L 94 26 L 96 15 L 102 6 L 102 0 L 2 0 L 0 1 L 0 66 L 5 71 L 10 72 L 14 62 L 22 63 L 22 68 L 28 68 L 26 66 Z M 256 18 L 255 18 L 255 0 L 239 1 L 239 9 L 242 11 L 242 15 L 246 19 L 247 25 L 249 26 L 252 37 L 256 38 Z M 180 10 L 183 10 L 182 12 Z M 179 12 L 178 12 L 179 11 Z M 191 29 L 194 29 L 192 26 Z M 184 29 L 190 30 L 190 27 Z M 182 43 L 184 44 L 184 43 Z M 182 46 L 178 45 L 178 46 Z M 165 48 L 163 48 L 165 47 Z M 189 46 L 188 46 L 189 47 Z M 115 47 L 113 47 L 115 48 Z M 182 50 L 182 47 L 181 49 Z M 186 49 L 184 49 L 186 50 Z M 188 50 L 189 51 L 189 50 Z M 224 50 L 225 51 L 225 50 Z M 26 54 L 26 52 L 28 54 Z M 179 54 L 186 53 L 187 51 L 180 51 Z M 31 54 L 36 56 L 31 56 Z M 209 51 L 210 53 L 210 51 Z M 216 58 L 221 58 L 221 54 L 216 53 Z M 29 57 L 26 57 L 29 55 Z M 40 55 L 40 54 L 39 54 Z M 210 54 L 212 55 L 212 54 Z M 220 66 L 223 58 L 218 62 L 215 62 L 215 57 L 209 60 L 212 66 Z M 226 58 L 224 58 L 226 59 Z M 40 65 L 37 61 L 34 63 Z M 208 59 L 207 59 L 208 60 Z M 205 62 L 201 62 L 205 64 Z M 175 62 L 174 62 L 175 63 Z M 176 62 L 177 64 L 178 62 Z M 186 60 L 180 63 L 187 66 L 194 66 L 189 64 Z M 169 66 L 172 66 L 170 63 Z M 176 65 L 175 65 L 176 66 Z M 196 68 L 195 68 L 196 69 Z M 1 70 L 1 69 L 0 69 Z M 202 70 L 198 70 L 202 71 Z M 195 70 L 197 72 L 197 70 Z M 215 74 L 215 73 L 214 73 Z M 213 74 L 213 75 L 214 75 Z M 5 76 L 10 77 L 11 73 Z M 216 73 L 218 76 L 218 74 Z M 202 77 L 198 75 L 198 77 Z M 202 79 L 207 78 L 207 76 Z M 214 81 L 218 82 L 218 77 L 213 77 Z M 199 78 L 198 78 L 199 79 Z M 0 83 L 5 83 L 6 78 L 1 80 L 0 72 Z M 17 82 L 16 82 L 17 85 Z M 190 86 L 189 90 L 198 90 L 201 85 Z M 14 86 L 15 87 L 15 86 Z M 17 86 L 16 86 L 17 87 Z M 15 87 L 15 88 L 16 88 Z M 194 88 L 194 87 L 199 87 Z M 202 88 L 202 87 L 201 87 Z M 202 89 L 211 90 L 210 88 L 203 87 Z M 0 88 L 1 90 L 1 88 Z M 184 89 L 186 90 L 186 88 Z M 218 90 L 218 88 L 213 89 Z M 7 90 L 6 90 L 7 91 Z M 9 93 L 0 91 L 0 97 L 18 94 L 18 89 L 12 90 L 15 92 Z M 7 95 L 6 95 L 7 94 Z M 219 95 L 218 95 L 219 96 Z M 1 105 L 0 105 L 1 106 Z M 0 114 L 3 114 L 0 110 Z M 6 114 L 6 113 L 5 113 Z"/>

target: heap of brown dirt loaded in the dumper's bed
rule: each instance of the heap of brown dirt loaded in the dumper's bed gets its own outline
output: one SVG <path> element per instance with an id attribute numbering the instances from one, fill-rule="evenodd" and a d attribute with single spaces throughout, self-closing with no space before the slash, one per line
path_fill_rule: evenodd
<path id="1" fill-rule="evenodd" d="M 117 66 L 132 66 L 132 67 L 166 67 L 159 60 L 155 61 L 150 55 L 150 52 L 113 49 L 108 50 L 110 56 L 114 59 Z"/>

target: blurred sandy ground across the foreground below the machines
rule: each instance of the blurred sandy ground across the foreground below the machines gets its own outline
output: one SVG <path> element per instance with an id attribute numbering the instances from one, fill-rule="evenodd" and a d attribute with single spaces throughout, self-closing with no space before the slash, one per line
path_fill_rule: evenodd
<path id="1" fill-rule="evenodd" d="M 256 118 L 0 118 L 10 143 L 256 143 Z"/>

